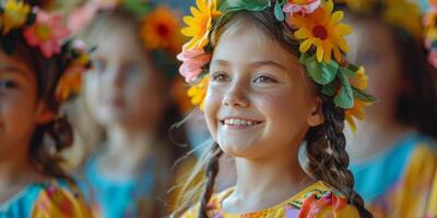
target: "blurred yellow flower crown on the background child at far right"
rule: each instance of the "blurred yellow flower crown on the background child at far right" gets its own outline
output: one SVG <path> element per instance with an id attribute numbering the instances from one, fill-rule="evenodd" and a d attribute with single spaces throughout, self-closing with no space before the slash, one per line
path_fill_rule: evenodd
<path id="1" fill-rule="evenodd" d="M 355 13 L 379 16 L 388 24 L 399 27 L 415 39 L 422 39 L 421 9 L 409 0 L 334 0 Z"/>

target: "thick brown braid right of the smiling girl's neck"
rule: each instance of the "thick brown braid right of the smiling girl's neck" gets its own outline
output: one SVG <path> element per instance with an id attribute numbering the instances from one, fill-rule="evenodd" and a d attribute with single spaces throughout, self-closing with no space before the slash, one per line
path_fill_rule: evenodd
<path id="1" fill-rule="evenodd" d="M 335 107 L 332 97 L 323 96 L 324 123 L 312 128 L 307 134 L 308 168 L 311 174 L 344 194 L 361 217 L 373 217 L 364 207 L 364 201 L 354 191 L 354 177 L 347 169 L 349 155 L 343 134 L 344 110 Z"/>

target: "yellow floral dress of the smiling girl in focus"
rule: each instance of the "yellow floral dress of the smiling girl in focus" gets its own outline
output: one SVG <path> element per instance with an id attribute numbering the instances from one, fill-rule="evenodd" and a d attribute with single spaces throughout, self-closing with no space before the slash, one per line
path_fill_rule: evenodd
<path id="1" fill-rule="evenodd" d="M 208 205 L 211 218 L 357 218 L 358 211 L 347 201 L 332 192 L 323 182 L 317 182 L 287 201 L 271 208 L 247 214 L 229 214 L 222 208 L 222 202 L 235 187 L 214 194 Z M 189 209 L 182 218 L 198 217 L 199 205 Z"/>

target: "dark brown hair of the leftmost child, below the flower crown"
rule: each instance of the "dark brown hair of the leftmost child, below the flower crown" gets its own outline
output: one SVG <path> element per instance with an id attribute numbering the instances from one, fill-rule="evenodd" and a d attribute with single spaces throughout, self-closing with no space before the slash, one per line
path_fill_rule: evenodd
<path id="1" fill-rule="evenodd" d="M 59 101 L 56 99 L 57 84 L 68 65 L 60 55 L 47 59 L 38 48 L 27 46 L 23 36 L 14 41 L 14 57 L 33 70 L 37 83 L 37 98 L 57 117 L 54 121 L 37 125 L 29 145 L 29 157 L 35 168 L 51 178 L 72 179 L 64 172 L 61 165 L 61 152 L 73 143 L 73 131 L 66 116 L 58 117 Z"/>

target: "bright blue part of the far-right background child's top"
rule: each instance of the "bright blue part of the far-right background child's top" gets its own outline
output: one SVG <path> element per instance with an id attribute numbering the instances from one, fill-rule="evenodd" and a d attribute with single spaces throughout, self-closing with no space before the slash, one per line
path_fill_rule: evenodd
<path id="1" fill-rule="evenodd" d="M 382 196 L 402 178 L 414 150 L 432 142 L 426 136 L 409 134 L 390 149 L 367 161 L 351 162 L 355 190 L 366 203 Z"/>

